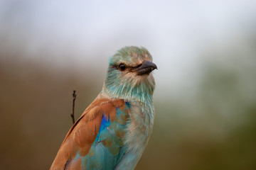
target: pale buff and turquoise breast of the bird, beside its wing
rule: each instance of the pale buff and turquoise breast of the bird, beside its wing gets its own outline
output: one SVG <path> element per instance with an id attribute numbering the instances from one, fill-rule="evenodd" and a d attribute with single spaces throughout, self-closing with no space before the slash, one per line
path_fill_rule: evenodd
<path id="1" fill-rule="evenodd" d="M 129 106 L 129 123 L 124 136 L 125 153 L 114 170 L 134 169 L 142 157 L 154 122 L 154 108 L 145 108 L 135 102 Z"/>

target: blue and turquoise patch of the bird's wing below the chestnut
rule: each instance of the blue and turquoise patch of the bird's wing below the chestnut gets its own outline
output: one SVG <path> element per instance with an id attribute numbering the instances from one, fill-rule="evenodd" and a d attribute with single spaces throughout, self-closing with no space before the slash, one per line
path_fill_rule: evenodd
<path id="1" fill-rule="evenodd" d="M 126 110 L 130 108 L 129 103 L 125 103 L 125 109 L 117 109 L 116 119 L 110 122 L 110 118 L 102 115 L 102 122 L 99 133 L 92 143 L 92 147 L 85 157 L 82 158 L 81 169 L 113 169 L 114 166 L 122 158 L 126 148 L 124 147 L 124 134 L 127 128 L 127 116 L 129 112 Z M 75 159 L 80 158 L 80 153 L 76 155 Z"/>

